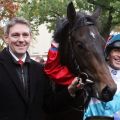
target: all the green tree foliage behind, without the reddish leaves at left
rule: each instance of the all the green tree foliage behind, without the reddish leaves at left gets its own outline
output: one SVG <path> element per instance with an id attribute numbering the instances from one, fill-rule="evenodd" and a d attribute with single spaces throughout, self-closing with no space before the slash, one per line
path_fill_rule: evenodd
<path id="1" fill-rule="evenodd" d="M 48 29 L 54 30 L 58 17 L 66 15 L 67 4 L 71 0 L 26 0 L 21 4 L 19 16 L 24 16 L 33 24 L 34 30 L 42 23 L 47 23 Z M 119 0 L 73 0 L 76 9 L 94 11 L 96 6 L 102 8 L 101 34 L 106 38 L 110 31 L 120 23 Z M 27 11 L 27 12 L 26 12 Z"/>

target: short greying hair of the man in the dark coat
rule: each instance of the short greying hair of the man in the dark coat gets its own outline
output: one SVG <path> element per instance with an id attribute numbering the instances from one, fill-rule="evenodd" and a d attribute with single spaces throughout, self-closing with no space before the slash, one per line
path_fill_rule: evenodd
<path id="1" fill-rule="evenodd" d="M 13 26 L 16 25 L 16 24 L 23 24 L 23 25 L 28 26 L 29 29 L 30 29 L 30 33 L 31 33 L 31 27 L 30 27 L 29 21 L 27 21 L 27 20 L 24 19 L 24 18 L 14 17 L 14 18 L 12 18 L 12 19 L 7 23 L 7 25 L 5 26 L 5 28 L 4 28 L 4 34 L 8 35 L 9 32 L 10 32 L 10 28 L 13 27 Z"/>

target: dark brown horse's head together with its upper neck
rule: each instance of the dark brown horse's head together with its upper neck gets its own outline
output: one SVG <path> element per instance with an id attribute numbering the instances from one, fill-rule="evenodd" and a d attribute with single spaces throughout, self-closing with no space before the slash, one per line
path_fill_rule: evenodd
<path id="1" fill-rule="evenodd" d="M 95 97 L 109 101 L 115 94 L 116 84 L 104 58 L 105 41 L 96 27 L 99 15 L 99 8 L 92 15 L 76 12 L 71 2 L 55 39 L 60 43 L 61 63 L 76 76 L 80 72 L 87 74 L 95 82 Z"/>

